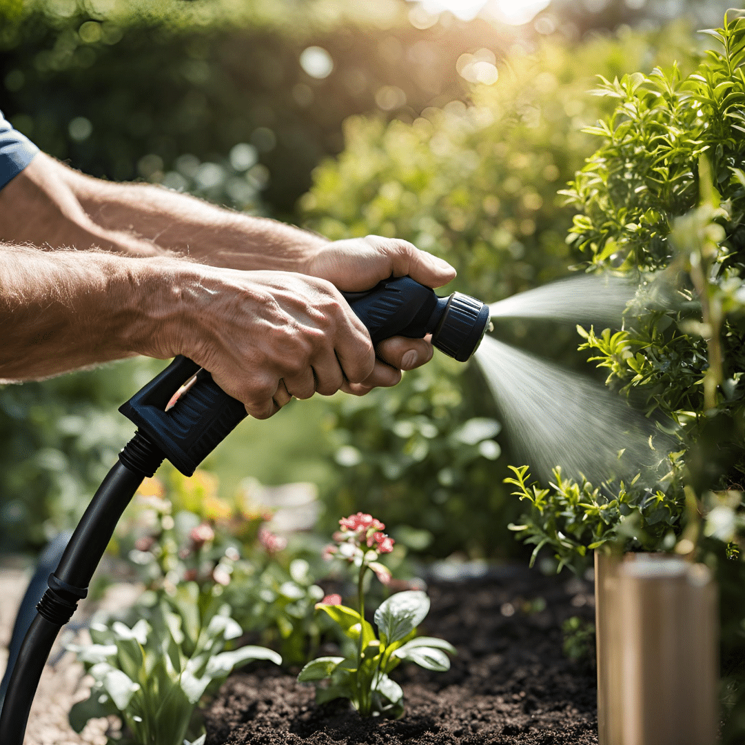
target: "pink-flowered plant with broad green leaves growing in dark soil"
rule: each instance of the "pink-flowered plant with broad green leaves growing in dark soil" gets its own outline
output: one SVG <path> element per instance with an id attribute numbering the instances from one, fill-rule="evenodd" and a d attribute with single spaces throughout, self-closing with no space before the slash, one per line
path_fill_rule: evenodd
<path id="1" fill-rule="evenodd" d="M 375 625 L 365 620 L 365 579 L 372 570 L 378 579 L 390 582 L 390 571 L 378 562 L 381 553 L 393 550 L 393 539 L 384 532 L 384 524 L 372 515 L 350 515 L 339 521 L 341 529 L 334 534 L 335 544 L 326 547 L 326 556 L 339 556 L 357 570 L 358 610 L 341 605 L 339 595 L 329 595 L 316 608 L 335 622 L 349 640 L 346 656 L 318 657 L 302 668 L 299 682 L 316 684 L 316 702 L 337 698 L 352 702 L 363 717 L 401 717 L 404 692 L 390 679 L 389 673 L 402 661 L 425 670 L 449 670 L 446 653 L 454 647 L 443 639 L 417 637 L 416 626 L 429 612 L 429 598 L 418 590 L 391 595 L 375 611 Z"/>

